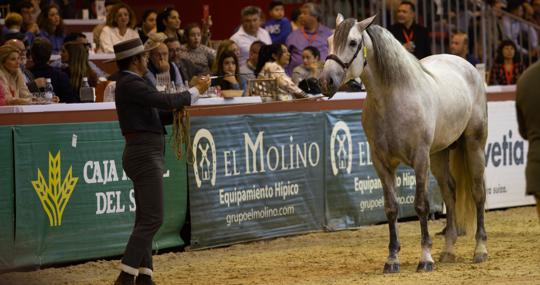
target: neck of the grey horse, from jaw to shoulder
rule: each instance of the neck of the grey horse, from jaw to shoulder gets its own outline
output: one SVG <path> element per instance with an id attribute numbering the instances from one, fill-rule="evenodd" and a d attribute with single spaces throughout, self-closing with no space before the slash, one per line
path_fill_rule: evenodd
<path id="1" fill-rule="evenodd" d="M 388 30 L 372 26 L 369 32 L 363 31 L 363 37 L 368 55 L 361 78 L 368 94 L 393 94 L 393 91 L 417 85 L 429 76 Z"/>

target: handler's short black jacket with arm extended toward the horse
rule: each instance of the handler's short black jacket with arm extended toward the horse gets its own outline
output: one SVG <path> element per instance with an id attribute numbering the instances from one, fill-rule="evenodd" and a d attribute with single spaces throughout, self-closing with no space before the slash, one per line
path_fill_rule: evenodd
<path id="1" fill-rule="evenodd" d="M 121 71 L 116 82 L 115 101 L 122 134 L 164 133 L 163 124 L 166 122 L 161 118 L 160 111 L 189 106 L 191 93 L 161 93 L 142 77 Z"/>

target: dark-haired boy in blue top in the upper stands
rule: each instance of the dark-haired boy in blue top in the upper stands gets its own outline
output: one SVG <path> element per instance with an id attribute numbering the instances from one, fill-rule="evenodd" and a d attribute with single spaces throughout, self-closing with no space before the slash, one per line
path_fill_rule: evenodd
<path id="1" fill-rule="evenodd" d="M 285 7 L 282 1 L 273 0 L 268 7 L 270 19 L 266 21 L 264 28 L 270 34 L 272 43 L 284 44 L 292 31 L 291 22 L 285 17 Z"/>

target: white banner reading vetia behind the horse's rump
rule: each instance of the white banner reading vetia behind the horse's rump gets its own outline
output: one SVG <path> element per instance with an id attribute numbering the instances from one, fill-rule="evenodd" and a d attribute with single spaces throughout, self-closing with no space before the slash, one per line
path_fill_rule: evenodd
<path id="1" fill-rule="evenodd" d="M 518 131 L 515 101 L 488 102 L 486 209 L 534 205 L 525 195 L 529 145 Z"/>

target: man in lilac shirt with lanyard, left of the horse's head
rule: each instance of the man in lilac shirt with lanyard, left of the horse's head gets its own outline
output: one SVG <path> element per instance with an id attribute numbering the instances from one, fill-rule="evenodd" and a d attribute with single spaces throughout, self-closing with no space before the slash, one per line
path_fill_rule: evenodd
<path id="1" fill-rule="evenodd" d="M 287 38 L 286 46 L 291 53 L 287 74 L 292 74 L 293 69 L 302 64 L 302 51 L 307 46 L 316 47 L 321 58 L 328 55 L 328 37 L 332 35 L 332 30 L 321 24 L 321 8 L 315 3 L 306 3 L 300 11 L 303 27 L 292 32 Z"/>

